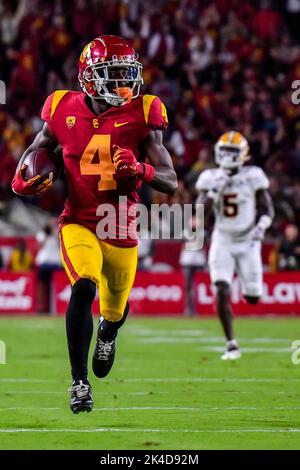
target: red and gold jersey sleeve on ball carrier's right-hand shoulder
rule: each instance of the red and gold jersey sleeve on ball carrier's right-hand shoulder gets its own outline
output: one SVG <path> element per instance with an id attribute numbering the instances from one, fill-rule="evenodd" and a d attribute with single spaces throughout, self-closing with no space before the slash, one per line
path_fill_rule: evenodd
<path id="1" fill-rule="evenodd" d="M 143 111 L 146 125 L 150 129 L 164 130 L 168 127 L 167 110 L 158 96 L 144 95 Z"/>

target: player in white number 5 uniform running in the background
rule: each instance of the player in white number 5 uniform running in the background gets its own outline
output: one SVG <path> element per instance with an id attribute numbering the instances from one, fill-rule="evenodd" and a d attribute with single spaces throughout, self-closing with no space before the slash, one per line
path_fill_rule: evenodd
<path id="1" fill-rule="evenodd" d="M 241 357 L 230 305 L 234 273 L 240 279 L 244 298 L 256 304 L 263 288 L 261 242 L 274 217 L 265 173 L 258 166 L 243 166 L 248 153 L 248 142 L 242 134 L 223 134 L 215 145 L 218 168 L 203 171 L 196 183 L 197 203 L 204 204 L 205 219 L 212 209 L 215 217 L 208 265 L 216 287 L 217 313 L 227 339 L 223 360 Z"/>

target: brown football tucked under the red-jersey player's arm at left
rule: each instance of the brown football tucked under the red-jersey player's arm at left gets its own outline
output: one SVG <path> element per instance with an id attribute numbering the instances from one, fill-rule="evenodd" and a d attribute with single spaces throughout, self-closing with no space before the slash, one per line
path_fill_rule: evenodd
<path id="1" fill-rule="evenodd" d="M 24 165 L 27 165 L 24 172 L 24 177 L 27 180 L 40 175 L 43 179 L 49 178 L 54 182 L 60 172 L 57 156 L 47 148 L 30 152 L 24 160 Z"/>

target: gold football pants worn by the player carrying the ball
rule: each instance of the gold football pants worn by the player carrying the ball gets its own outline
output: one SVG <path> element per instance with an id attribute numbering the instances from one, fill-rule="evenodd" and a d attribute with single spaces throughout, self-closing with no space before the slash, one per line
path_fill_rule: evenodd
<path id="1" fill-rule="evenodd" d="M 136 273 L 137 246 L 112 246 L 86 227 L 68 224 L 60 232 L 60 250 L 71 284 L 82 278 L 95 282 L 101 315 L 121 320 Z"/>

